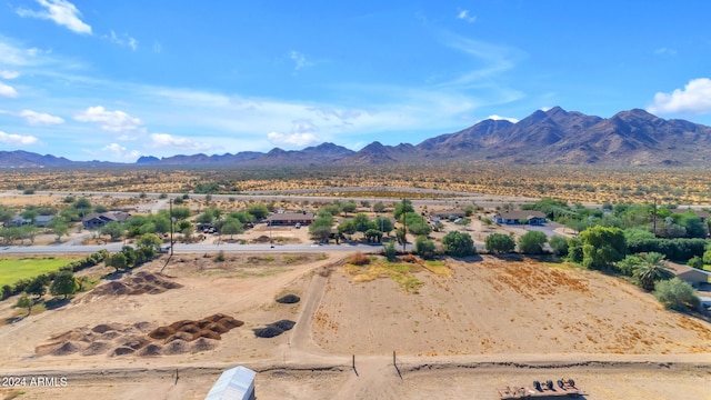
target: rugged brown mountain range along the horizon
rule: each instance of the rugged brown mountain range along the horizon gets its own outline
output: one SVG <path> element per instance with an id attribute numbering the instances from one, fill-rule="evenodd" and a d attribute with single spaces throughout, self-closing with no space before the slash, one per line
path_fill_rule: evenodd
<path id="1" fill-rule="evenodd" d="M 621 111 L 605 119 L 554 107 L 538 110 L 515 123 L 489 119 L 419 144 L 372 142 L 360 151 L 321 143 L 303 150 L 274 148 L 267 153 L 199 153 L 161 159 L 149 156 L 134 163 L 71 161 L 20 150 L 0 151 L 0 168 L 318 167 L 473 160 L 518 164 L 711 167 L 711 127 L 665 120 L 640 109 Z"/>

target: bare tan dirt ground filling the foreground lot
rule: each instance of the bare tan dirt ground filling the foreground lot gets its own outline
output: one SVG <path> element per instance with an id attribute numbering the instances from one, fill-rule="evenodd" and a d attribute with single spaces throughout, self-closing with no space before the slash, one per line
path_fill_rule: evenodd
<path id="1" fill-rule="evenodd" d="M 451 277 L 417 270 L 422 286 L 405 291 L 390 278 L 354 281 L 353 268 L 336 253 L 213 257 L 174 256 L 164 269 L 163 257 L 64 307 L 1 326 L 0 376 L 64 377 L 67 386 L 28 381 L 0 394 L 202 399 L 222 370 L 243 364 L 259 371 L 262 400 L 498 399 L 498 387 L 562 377 L 574 378 L 585 399 L 711 398 L 711 326 L 600 273 L 483 256 L 448 260 Z M 142 283 L 139 272 L 169 289 L 123 290 Z M 300 301 L 278 303 L 283 294 Z M 0 318 L 14 312 L 3 307 Z M 66 332 L 103 324 L 122 332 L 137 323 L 148 331 L 217 313 L 244 324 L 211 348 L 93 353 L 74 337 L 81 351 L 42 351 Z M 293 329 L 256 337 L 282 320 L 296 322 Z M 94 333 L 112 331 L 104 329 Z M 111 340 L 101 341 L 126 344 Z"/>

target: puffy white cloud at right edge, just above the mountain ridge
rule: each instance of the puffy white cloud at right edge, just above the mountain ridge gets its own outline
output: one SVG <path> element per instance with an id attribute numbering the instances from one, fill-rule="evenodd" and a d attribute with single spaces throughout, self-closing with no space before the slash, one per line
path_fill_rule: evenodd
<path id="1" fill-rule="evenodd" d="M 711 79 L 693 79 L 683 89 L 671 93 L 654 94 L 654 102 L 647 108 L 651 113 L 664 112 L 711 112 Z"/>

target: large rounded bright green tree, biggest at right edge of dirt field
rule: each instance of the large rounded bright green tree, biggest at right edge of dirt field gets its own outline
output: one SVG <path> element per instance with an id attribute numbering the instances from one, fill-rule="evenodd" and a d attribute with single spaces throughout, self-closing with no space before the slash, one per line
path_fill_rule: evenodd
<path id="1" fill-rule="evenodd" d="M 580 233 L 582 266 L 603 269 L 627 253 L 624 233 L 620 228 L 595 226 Z"/>

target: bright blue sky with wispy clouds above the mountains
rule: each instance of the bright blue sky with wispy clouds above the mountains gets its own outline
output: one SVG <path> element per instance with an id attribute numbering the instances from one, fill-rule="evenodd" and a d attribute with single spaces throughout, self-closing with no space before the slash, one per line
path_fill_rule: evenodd
<path id="1" fill-rule="evenodd" d="M 554 106 L 711 124 L 709 16 L 705 0 L 6 0 L 0 150 L 359 150 Z"/>

